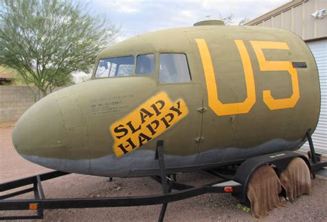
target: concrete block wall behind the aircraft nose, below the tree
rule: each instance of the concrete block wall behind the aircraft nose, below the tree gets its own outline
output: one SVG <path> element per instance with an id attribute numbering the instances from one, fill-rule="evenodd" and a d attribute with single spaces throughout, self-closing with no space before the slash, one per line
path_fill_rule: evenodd
<path id="1" fill-rule="evenodd" d="M 42 98 L 37 88 L 33 90 L 37 92 L 37 99 Z M 27 86 L 0 85 L 0 122 L 17 121 L 33 104 L 34 97 Z"/>

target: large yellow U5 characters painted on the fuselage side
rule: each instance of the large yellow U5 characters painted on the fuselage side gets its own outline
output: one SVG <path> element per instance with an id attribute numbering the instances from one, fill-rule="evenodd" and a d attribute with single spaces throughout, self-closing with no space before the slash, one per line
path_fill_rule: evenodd
<path id="1" fill-rule="evenodd" d="M 246 81 L 247 97 L 241 103 L 221 103 L 217 92 L 217 83 L 215 79 L 215 71 L 212 66 L 212 59 L 208 46 L 204 39 L 195 39 L 197 47 L 204 67 L 204 77 L 206 79 L 206 88 L 208 92 L 209 107 L 217 116 L 248 113 L 256 102 L 255 79 L 253 77 L 252 65 L 248 50 L 244 46 L 242 40 L 235 40 L 237 49 L 241 57 L 244 68 L 244 77 Z M 250 41 L 252 48 L 255 50 L 259 68 L 261 71 L 288 71 L 290 81 L 292 83 L 293 94 L 286 99 L 275 99 L 271 95 L 270 90 L 263 90 L 264 103 L 270 110 L 279 110 L 293 108 L 299 100 L 299 81 L 297 78 L 297 70 L 293 68 L 290 61 L 266 61 L 263 49 L 289 50 L 287 43 L 277 41 Z"/>

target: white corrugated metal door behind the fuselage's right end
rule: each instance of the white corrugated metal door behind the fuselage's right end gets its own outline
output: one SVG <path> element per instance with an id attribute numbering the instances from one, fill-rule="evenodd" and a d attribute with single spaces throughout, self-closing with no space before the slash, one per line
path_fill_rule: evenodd
<path id="1" fill-rule="evenodd" d="M 315 150 L 327 154 L 327 40 L 307 43 L 315 57 L 321 90 L 321 108 L 317 129 L 313 133 Z M 309 149 L 308 143 L 302 147 Z"/>

